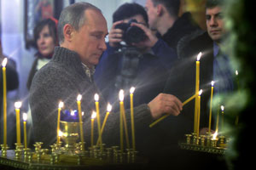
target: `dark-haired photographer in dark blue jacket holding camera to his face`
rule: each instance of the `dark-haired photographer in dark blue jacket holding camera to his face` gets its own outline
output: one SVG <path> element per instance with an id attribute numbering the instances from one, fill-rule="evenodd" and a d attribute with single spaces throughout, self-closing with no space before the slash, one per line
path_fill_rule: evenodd
<path id="1" fill-rule="evenodd" d="M 131 86 L 136 88 L 134 106 L 148 103 L 163 92 L 168 69 L 177 55 L 148 29 L 148 15 L 141 5 L 125 3 L 113 13 L 108 39 L 94 74 L 107 101 L 118 104 L 119 89 L 129 94 Z M 128 101 L 126 108 L 130 107 Z"/>

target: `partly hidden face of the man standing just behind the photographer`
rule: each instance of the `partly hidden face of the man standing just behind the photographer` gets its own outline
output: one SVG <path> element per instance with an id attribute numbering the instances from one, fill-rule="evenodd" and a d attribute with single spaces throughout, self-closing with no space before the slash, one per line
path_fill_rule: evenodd
<path id="1" fill-rule="evenodd" d="M 156 30 L 157 26 L 157 8 L 154 7 L 152 0 L 147 0 L 145 9 L 148 14 L 148 26 L 151 30 Z"/>

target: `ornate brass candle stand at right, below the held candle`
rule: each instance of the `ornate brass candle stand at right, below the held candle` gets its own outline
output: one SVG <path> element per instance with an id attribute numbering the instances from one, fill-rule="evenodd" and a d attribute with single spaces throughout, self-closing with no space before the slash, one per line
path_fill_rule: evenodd
<path id="1" fill-rule="evenodd" d="M 207 135 L 196 136 L 195 133 L 185 134 L 186 142 L 179 143 L 184 150 L 203 151 L 212 154 L 223 155 L 226 150 L 227 140 L 224 136 L 214 139 L 212 133 Z"/>

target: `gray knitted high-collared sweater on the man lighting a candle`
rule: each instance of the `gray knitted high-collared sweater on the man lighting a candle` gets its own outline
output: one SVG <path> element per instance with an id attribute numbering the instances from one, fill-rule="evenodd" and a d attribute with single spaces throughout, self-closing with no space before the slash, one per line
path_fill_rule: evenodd
<path id="1" fill-rule="evenodd" d="M 65 109 L 75 110 L 77 96 L 82 94 L 84 140 L 86 147 L 90 146 L 90 116 L 91 112 L 95 111 L 94 94 L 96 93 L 100 94 L 94 82 L 90 82 L 89 77 L 86 76 L 79 54 L 67 48 L 56 47 L 53 58 L 37 72 L 32 80 L 29 102 L 32 109 L 35 141 L 43 142 L 44 147 L 55 143 L 59 102 L 64 102 Z M 101 122 L 103 122 L 107 107 L 101 94 L 99 104 Z M 148 127 L 152 117 L 148 105 L 140 105 L 134 108 L 134 112 L 136 132 L 137 135 L 141 135 L 139 129 Z M 131 130 L 130 111 L 125 111 L 125 116 L 128 129 Z M 96 141 L 98 136 L 96 121 L 94 134 Z M 119 144 L 119 113 L 110 113 L 108 116 L 102 140 L 108 145 Z"/>

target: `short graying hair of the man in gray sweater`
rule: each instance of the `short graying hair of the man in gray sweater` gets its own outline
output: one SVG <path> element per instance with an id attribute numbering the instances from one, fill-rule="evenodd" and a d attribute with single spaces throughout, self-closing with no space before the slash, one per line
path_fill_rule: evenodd
<path id="1" fill-rule="evenodd" d="M 64 42 L 63 28 L 66 24 L 73 26 L 76 31 L 79 31 L 81 26 L 84 26 L 84 21 L 86 20 L 84 11 L 87 9 L 94 9 L 101 12 L 101 9 L 97 8 L 96 6 L 84 2 L 73 3 L 62 10 L 57 27 L 60 44 Z"/>

